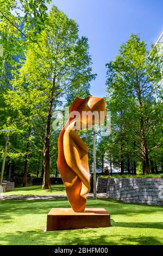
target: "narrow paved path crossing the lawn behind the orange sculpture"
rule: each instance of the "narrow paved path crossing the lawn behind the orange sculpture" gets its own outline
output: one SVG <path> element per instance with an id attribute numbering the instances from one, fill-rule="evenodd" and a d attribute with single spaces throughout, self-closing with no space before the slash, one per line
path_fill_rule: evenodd
<path id="1" fill-rule="evenodd" d="M 89 193 L 87 198 L 93 198 L 93 193 Z M 97 193 L 97 198 L 105 198 L 106 193 Z M 35 199 L 66 199 L 66 194 L 53 194 L 47 196 L 3 196 L 0 200 L 35 200 Z"/>

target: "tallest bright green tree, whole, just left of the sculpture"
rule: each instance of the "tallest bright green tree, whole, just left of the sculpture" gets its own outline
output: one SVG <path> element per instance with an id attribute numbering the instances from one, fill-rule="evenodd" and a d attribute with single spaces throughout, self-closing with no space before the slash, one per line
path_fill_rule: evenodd
<path id="1" fill-rule="evenodd" d="M 28 109 L 27 117 L 24 109 L 21 113 L 43 143 L 42 188 L 51 188 L 52 113 L 60 104 L 59 97 L 72 94 L 77 86 L 80 90 L 84 90 L 86 84 L 89 87 L 95 75 L 91 74 L 87 38 L 79 38 L 76 22 L 55 6 L 50 11 L 46 29 L 37 36 L 36 42 L 30 42 L 25 56 L 19 73 L 15 72 L 14 90 L 7 93 L 6 100 L 9 103 L 11 98 L 15 99 L 14 107 L 20 105 L 18 102 L 24 102 Z"/>

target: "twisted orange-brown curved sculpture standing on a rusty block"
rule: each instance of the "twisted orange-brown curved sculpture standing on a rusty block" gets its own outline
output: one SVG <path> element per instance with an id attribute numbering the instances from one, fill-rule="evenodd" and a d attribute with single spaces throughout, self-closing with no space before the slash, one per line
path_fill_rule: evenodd
<path id="1" fill-rule="evenodd" d="M 74 111 L 77 111 L 78 114 L 75 114 Z M 92 115 L 94 111 L 98 115 Z M 91 114 L 85 115 L 86 112 Z M 103 114 L 101 114 L 102 112 Z M 74 211 L 79 212 L 85 210 L 85 195 L 90 191 L 90 173 L 88 148 L 77 135 L 76 130 L 78 130 L 77 126 L 89 127 L 103 123 L 105 101 L 101 97 L 89 96 L 85 99 L 77 97 L 73 101 L 69 113 L 70 117 L 58 138 L 57 164 L 70 205 Z"/>

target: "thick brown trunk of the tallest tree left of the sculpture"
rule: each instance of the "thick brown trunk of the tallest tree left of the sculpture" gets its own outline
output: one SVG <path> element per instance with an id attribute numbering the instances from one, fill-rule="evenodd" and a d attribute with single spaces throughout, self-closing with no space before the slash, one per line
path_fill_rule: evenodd
<path id="1" fill-rule="evenodd" d="M 52 117 L 52 106 L 53 106 L 53 100 L 54 100 L 55 80 L 56 80 L 56 75 L 54 74 L 53 87 L 51 90 L 51 96 L 50 96 L 48 112 L 47 112 L 45 140 L 44 140 L 44 147 L 43 147 L 43 182 L 42 182 L 43 190 L 52 188 L 51 179 L 50 179 L 49 151 L 50 151 L 51 117 Z"/>

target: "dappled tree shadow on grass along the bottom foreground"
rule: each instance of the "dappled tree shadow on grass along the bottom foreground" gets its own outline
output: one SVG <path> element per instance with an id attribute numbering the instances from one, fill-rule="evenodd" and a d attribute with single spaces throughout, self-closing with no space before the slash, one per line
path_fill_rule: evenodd
<path id="1" fill-rule="evenodd" d="M 105 230 L 106 231 L 106 230 Z M 78 229 L 43 232 L 17 231 L 1 235 L 0 245 L 162 245 L 156 237 L 121 234 L 101 234 L 100 229 Z"/>

